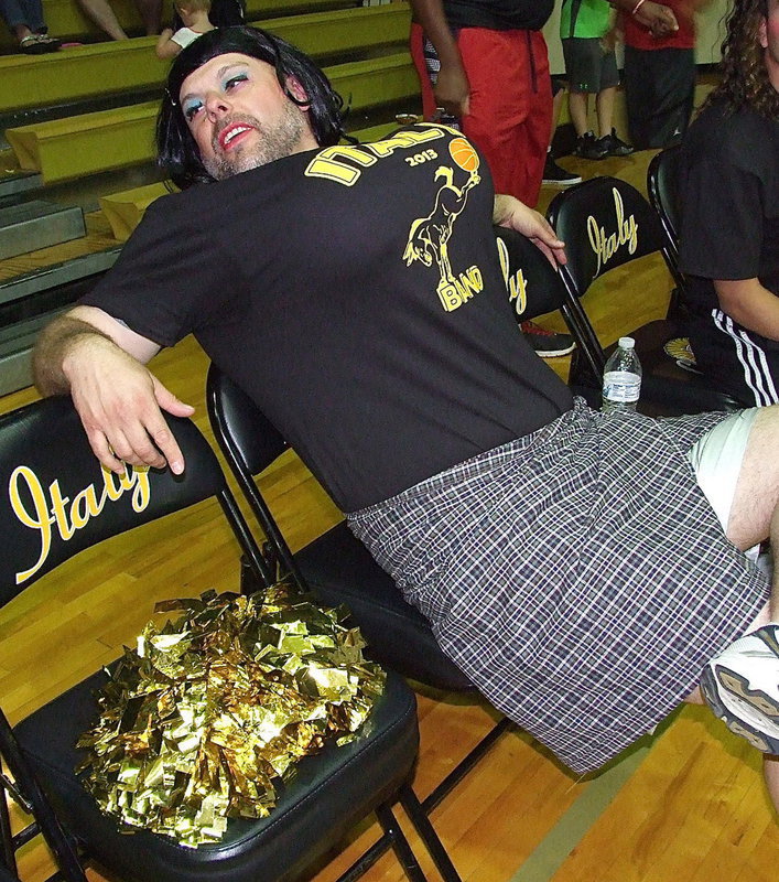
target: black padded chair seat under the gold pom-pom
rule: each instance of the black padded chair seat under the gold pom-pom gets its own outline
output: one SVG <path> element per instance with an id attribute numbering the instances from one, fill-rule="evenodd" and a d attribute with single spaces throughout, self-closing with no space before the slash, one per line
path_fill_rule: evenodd
<path id="1" fill-rule="evenodd" d="M 78 736 L 95 721 L 96 674 L 15 728 L 22 751 L 61 819 L 88 853 L 123 880 L 138 882 L 279 882 L 299 878 L 411 774 L 419 746 L 416 702 L 403 679 L 387 687 L 366 725 L 368 734 L 301 761 L 277 808 L 261 820 L 230 820 L 219 843 L 197 849 L 145 830 L 119 831 L 74 774 L 83 759 Z"/>

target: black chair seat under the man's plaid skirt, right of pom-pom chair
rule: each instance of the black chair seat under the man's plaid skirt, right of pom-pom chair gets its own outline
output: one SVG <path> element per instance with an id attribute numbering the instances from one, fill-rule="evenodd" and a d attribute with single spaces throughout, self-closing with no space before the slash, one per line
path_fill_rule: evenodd
<path id="1" fill-rule="evenodd" d="M 299 551 L 295 561 L 323 603 L 349 607 L 374 658 L 428 686 L 474 691 L 470 680 L 439 648 L 428 620 L 403 600 L 346 523 Z"/>

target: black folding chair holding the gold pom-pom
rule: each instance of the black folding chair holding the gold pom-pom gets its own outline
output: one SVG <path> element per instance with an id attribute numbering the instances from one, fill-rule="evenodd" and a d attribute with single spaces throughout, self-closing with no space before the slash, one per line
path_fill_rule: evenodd
<path id="1" fill-rule="evenodd" d="M 212 497 L 221 504 L 255 585 L 275 580 L 209 444 L 191 421 L 169 422 L 186 459 L 185 474 L 128 467 L 121 485 L 99 467 L 69 399 L 47 399 L 0 418 L 0 605 L 79 550 Z M 48 516 L 55 496 L 56 523 Z M 11 874 L 18 848 L 40 830 L 67 882 L 85 882 L 84 858 L 139 882 L 300 879 L 375 810 L 408 878 L 424 882 L 390 808 L 399 798 L 445 878 L 458 879 L 408 783 L 419 744 L 416 703 L 398 675 L 389 674 L 365 734 L 302 760 L 268 818 L 231 819 L 219 843 L 197 849 L 145 830 L 128 835 L 98 809 L 75 775 L 82 759 L 76 740 L 96 719 L 94 691 L 106 679 L 105 673 L 95 674 L 13 729 L 0 713 L 0 754 L 11 773 L 0 782 L 0 864 Z M 33 816 L 34 825 L 11 833 L 6 794 Z M 347 872 L 343 879 L 356 876 Z"/>

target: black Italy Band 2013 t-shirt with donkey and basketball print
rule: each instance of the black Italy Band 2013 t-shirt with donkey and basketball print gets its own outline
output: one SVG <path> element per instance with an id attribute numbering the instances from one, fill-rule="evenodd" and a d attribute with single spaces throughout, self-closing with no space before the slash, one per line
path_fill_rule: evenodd
<path id="1" fill-rule="evenodd" d="M 468 142 L 415 126 L 159 200 L 82 303 L 194 333 L 356 510 L 571 407 L 513 321 L 491 211 Z"/>

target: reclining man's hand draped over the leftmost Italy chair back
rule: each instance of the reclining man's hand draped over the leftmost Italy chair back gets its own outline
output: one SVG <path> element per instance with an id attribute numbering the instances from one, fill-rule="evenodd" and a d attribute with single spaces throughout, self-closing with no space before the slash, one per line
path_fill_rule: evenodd
<path id="1" fill-rule="evenodd" d="M 107 469 L 121 474 L 123 462 L 156 469 L 167 463 L 174 474 L 184 471 L 184 456 L 161 409 L 191 417 L 194 408 L 144 365 L 106 337 L 82 336 L 65 356 L 63 373 L 89 445 Z"/>

